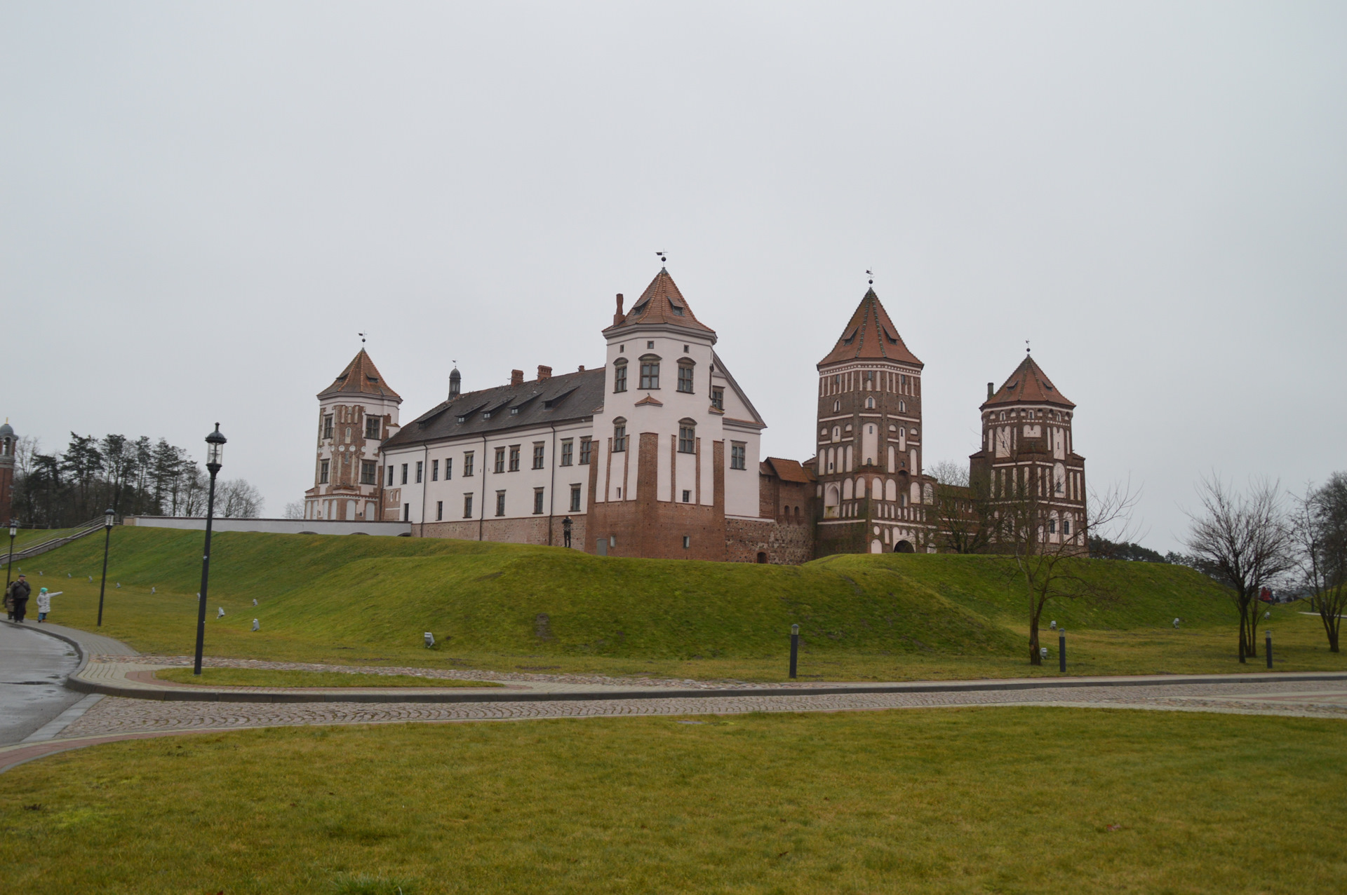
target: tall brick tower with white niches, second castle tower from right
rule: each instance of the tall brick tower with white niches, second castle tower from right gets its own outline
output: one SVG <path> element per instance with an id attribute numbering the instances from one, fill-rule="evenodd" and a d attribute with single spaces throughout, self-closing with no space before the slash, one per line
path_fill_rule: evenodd
<path id="1" fill-rule="evenodd" d="M 935 479 L 921 474 L 923 366 L 867 291 L 818 365 L 818 556 L 935 549 Z"/>

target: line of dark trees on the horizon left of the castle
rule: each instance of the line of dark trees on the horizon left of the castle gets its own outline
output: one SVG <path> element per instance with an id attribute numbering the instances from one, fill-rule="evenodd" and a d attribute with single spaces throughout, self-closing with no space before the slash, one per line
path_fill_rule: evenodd
<path id="1" fill-rule="evenodd" d="M 123 515 L 205 515 L 210 476 L 185 448 L 148 436 L 70 433 L 63 451 L 34 437 L 15 450 L 12 514 L 24 528 L 70 528 L 109 507 Z M 247 479 L 216 483 L 216 515 L 256 517 L 261 493 Z"/>

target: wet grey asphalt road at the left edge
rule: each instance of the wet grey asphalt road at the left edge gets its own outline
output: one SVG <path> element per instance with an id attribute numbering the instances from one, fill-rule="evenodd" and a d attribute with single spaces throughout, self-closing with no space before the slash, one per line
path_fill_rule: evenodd
<path id="1" fill-rule="evenodd" d="M 84 699 L 63 681 L 79 666 L 73 646 L 54 637 L 0 623 L 0 746 L 19 743 Z"/>

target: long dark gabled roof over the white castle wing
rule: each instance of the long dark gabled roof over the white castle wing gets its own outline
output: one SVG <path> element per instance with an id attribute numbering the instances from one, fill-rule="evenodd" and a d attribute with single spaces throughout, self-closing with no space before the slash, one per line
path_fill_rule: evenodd
<path id="1" fill-rule="evenodd" d="M 384 441 L 384 450 L 589 419 L 595 409 L 603 406 L 603 367 L 598 367 L 583 373 L 563 373 L 541 382 L 532 380 L 520 385 L 465 392 L 404 425 L 397 435 Z M 519 413 L 512 415 L 512 408 Z M 462 423 L 459 417 L 463 419 Z"/>

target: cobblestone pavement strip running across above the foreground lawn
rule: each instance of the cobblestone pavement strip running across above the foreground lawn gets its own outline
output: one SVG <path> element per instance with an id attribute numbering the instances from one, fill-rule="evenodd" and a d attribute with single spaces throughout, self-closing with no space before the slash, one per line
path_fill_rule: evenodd
<path id="1" fill-rule="evenodd" d="M 958 693 L 855 693 L 727 696 L 552 703 L 159 703 L 108 697 L 62 732 L 62 739 L 147 732 L 381 724 L 400 721 L 523 720 L 633 715 L 738 715 L 744 712 L 843 712 L 967 705 L 1060 705 L 1288 715 L 1347 720 L 1347 685 L 1324 681 L 1098 686 Z"/>

